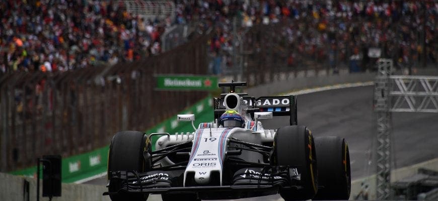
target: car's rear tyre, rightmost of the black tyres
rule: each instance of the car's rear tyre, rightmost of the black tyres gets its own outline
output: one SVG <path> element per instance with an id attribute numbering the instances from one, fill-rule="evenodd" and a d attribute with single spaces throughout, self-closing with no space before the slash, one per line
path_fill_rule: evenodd
<path id="1" fill-rule="evenodd" d="M 350 154 L 345 139 L 316 137 L 319 185 L 314 200 L 341 200 L 350 197 Z"/>

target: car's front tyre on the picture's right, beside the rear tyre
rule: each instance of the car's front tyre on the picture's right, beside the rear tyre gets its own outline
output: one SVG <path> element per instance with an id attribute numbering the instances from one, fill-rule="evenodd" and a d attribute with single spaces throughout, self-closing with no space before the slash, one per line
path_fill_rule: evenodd
<path id="1" fill-rule="evenodd" d="M 305 126 L 279 128 L 274 137 L 271 164 L 296 167 L 301 174 L 303 188 L 280 189 L 285 200 L 307 200 L 318 191 L 318 172 L 315 143 L 312 133 Z"/>

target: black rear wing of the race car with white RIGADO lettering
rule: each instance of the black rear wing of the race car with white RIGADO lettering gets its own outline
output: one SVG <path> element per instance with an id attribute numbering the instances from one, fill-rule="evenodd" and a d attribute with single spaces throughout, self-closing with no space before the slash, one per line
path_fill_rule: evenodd
<path id="1" fill-rule="evenodd" d="M 243 97 L 248 106 L 248 113 L 272 112 L 273 116 L 290 116 L 289 124 L 297 125 L 297 96 L 262 96 L 259 98 Z M 214 119 L 218 119 L 225 112 L 224 98 L 213 98 Z"/>

